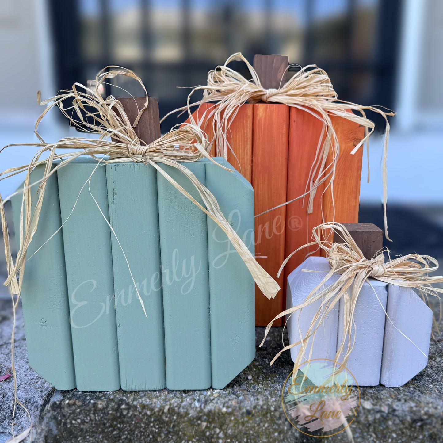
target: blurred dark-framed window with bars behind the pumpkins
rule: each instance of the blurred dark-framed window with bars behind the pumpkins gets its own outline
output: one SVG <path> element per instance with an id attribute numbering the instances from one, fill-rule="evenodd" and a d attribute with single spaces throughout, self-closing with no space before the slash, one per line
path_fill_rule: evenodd
<path id="1" fill-rule="evenodd" d="M 110 64 L 134 70 L 160 114 L 241 51 L 325 69 L 343 100 L 392 107 L 401 0 L 50 0 L 58 88 Z M 244 66 L 234 65 L 244 72 Z M 123 82 L 124 83 L 124 82 Z M 119 80 L 119 85 L 125 87 Z M 140 95 L 128 82 L 130 93 Z M 121 96 L 112 86 L 107 93 Z M 169 118 L 162 127 L 177 123 Z"/>

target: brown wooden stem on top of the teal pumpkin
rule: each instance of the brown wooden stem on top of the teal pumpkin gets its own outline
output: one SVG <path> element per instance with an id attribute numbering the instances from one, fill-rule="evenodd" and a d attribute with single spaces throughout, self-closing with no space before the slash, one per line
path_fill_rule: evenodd
<path id="1" fill-rule="evenodd" d="M 140 109 L 144 107 L 146 97 L 121 97 L 118 100 L 123 105 L 129 122 L 134 124 Z M 160 137 L 159 102 L 156 98 L 148 97 L 148 108 L 144 110 L 134 131 L 137 137 L 146 144 L 150 144 Z"/>

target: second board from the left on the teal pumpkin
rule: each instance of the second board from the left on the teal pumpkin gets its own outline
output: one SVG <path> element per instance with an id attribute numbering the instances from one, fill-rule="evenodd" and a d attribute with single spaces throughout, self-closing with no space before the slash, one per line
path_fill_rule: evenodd
<path id="1" fill-rule="evenodd" d="M 82 158 L 58 171 L 62 222 L 70 215 L 96 165 L 93 159 Z M 104 164 L 94 171 L 90 189 L 109 219 Z M 63 225 L 63 242 L 77 389 L 119 389 L 110 229 L 87 184 Z"/>

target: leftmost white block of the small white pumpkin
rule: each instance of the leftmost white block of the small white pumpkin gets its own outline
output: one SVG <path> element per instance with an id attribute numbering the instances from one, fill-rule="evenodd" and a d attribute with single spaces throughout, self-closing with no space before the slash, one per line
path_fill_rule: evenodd
<path id="1" fill-rule="evenodd" d="M 305 269 L 306 271 L 303 271 Z M 308 272 L 315 271 L 315 272 Z M 299 265 L 288 276 L 288 289 L 286 309 L 303 303 L 309 293 L 318 284 L 321 283 L 327 272 L 330 271 L 328 261 L 324 257 L 308 257 L 302 264 Z M 328 286 L 338 279 L 338 275 L 334 274 L 325 286 Z M 303 338 L 311 324 L 315 312 L 319 309 L 321 301 L 312 303 L 305 307 L 302 311 L 296 311 L 288 319 L 288 335 L 289 342 L 295 343 Z M 326 315 L 322 325 L 320 325 L 315 335 L 315 344 L 312 349 L 311 359 L 314 358 L 329 358 L 334 359 L 337 352 L 337 325 L 338 325 L 338 306 Z M 301 332 L 301 335 L 300 335 Z M 304 360 L 309 359 L 309 352 L 311 349 L 312 338 L 308 340 L 307 349 Z M 295 361 L 301 345 L 291 348 L 291 358 Z M 304 361 L 303 360 L 303 361 Z"/>

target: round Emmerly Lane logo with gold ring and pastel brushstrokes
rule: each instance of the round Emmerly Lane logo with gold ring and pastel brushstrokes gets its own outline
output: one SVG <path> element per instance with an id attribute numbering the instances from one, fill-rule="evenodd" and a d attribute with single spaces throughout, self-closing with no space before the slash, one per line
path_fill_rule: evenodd
<path id="1" fill-rule="evenodd" d="M 303 362 L 286 379 L 281 401 L 289 422 L 305 435 L 330 437 L 357 417 L 360 389 L 345 366 L 328 359 Z"/>

